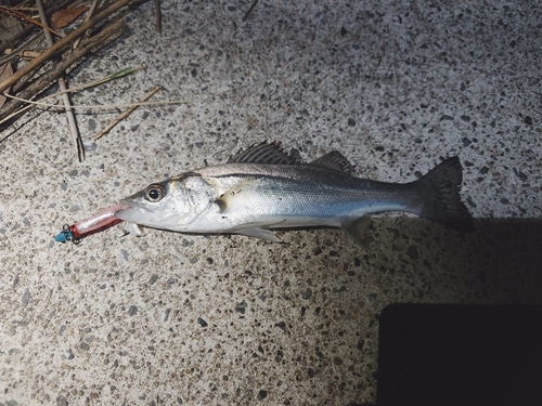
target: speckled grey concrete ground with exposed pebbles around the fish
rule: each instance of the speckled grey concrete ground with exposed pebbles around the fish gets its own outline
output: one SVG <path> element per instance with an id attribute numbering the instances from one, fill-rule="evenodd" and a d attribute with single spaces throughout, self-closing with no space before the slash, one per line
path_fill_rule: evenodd
<path id="1" fill-rule="evenodd" d="M 518 1 L 163 1 L 72 86 L 146 70 L 63 115 L 35 112 L 0 144 L 0 404 L 374 403 L 378 315 L 397 302 L 541 303 L 541 9 Z M 228 92 L 225 92 L 228 91 Z M 535 93 L 539 92 L 539 93 Z M 281 141 L 340 150 L 357 175 L 412 181 L 459 155 L 477 232 L 401 214 L 362 250 L 340 232 L 242 236 L 113 228 L 79 246 L 63 223 L 153 181 Z"/>

